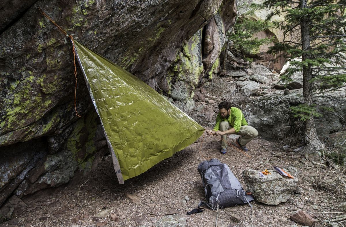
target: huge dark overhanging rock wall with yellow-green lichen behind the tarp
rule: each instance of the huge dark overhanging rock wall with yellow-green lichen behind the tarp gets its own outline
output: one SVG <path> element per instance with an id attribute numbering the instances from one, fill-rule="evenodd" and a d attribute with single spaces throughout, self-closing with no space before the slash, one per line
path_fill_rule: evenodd
<path id="1" fill-rule="evenodd" d="M 22 197 L 85 174 L 108 152 L 78 67 L 76 110 L 82 117 L 75 115 L 71 41 L 38 7 L 74 39 L 188 110 L 194 89 L 217 72 L 233 5 L 38 0 L 0 7 L 0 205 L 11 194 Z M 177 76 L 184 70 L 193 75 L 187 81 Z"/>

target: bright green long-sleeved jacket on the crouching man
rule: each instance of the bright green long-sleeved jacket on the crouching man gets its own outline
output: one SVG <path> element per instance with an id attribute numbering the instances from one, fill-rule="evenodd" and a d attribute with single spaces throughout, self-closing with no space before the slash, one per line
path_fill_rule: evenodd
<path id="1" fill-rule="evenodd" d="M 237 107 L 231 107 L 228 118 L 222 118 L 220 113 L 216 116 L 214 131 L 219 131 L 221 121 L 228 121 L 229 125 L 234 127 L 236 132 L 239 132 L 240 126 L 247 125 L 243 112 Z"/>

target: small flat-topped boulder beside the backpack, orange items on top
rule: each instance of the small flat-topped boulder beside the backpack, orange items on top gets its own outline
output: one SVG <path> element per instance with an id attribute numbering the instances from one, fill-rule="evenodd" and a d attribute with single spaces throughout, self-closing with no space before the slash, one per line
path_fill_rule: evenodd
<path id="1" fill-rule="evenodd" d="M 243 179 L 247 189 L 252 192 L 257 202 L 263 202 L 267 205 L 278 205 L 280 202 L 286 202 L 295 191 L 299 191 L 298 178 L 294 174 L 296 170 L 290 167 L 289 172 L 294 179 L 283 177 L 275 170 L 270 170 L 271 174 L 265 177 L 258 176 L 258 170 L 245 169 Z"/>

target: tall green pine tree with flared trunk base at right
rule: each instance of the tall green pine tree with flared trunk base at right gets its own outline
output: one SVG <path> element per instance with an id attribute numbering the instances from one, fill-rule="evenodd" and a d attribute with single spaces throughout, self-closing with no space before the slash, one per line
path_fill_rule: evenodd
<path id="1" fill-rule="evenodd" d="M 303 104 L 292 110 L 305 122 L 305 152 L 322 148 L 315 119 L 321 116 L 313 102 L 316 94 L 345 87 L 346 35 L 345 0 L 267 0 L 263 3 L 274 15 L 284 16 L 283 21 L 274 22 L 283 30 L 284 40 L 277 42 L 269 53 L 284 54 L 291 60 L 285 77 L 295 72 L 303 74 Z"/>

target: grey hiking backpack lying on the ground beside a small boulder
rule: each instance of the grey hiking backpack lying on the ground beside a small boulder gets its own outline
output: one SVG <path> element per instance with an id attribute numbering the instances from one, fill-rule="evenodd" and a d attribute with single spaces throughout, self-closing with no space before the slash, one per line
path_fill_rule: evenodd
<path id="1" fill-rule="evenodd" d="M 201 201 L 200 205 L 205 204 L 211 209 L 246 203 L 251 206 L 250 201 L 254 200 L 254 197 L 247 195 L 228 165 L 218 159 L 211 159 L 201 162 L 198 165 L 198 172 L 207 199 L 207 202 Z"/>

